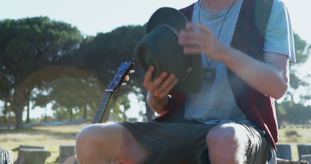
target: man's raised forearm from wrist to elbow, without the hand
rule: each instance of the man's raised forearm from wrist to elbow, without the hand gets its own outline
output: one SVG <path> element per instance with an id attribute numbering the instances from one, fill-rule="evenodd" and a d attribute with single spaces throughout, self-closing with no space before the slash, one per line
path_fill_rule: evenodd
<path id="1" fill-rule="evenodd" d="M 222 62 L 254 89 L 275 99 L 281 98 L 286 93 L 289 81 L 288 70 L 282 71 L 280 68 L 285 66 L 288 68 L 288 61 L 284 63 L 285 66 L 278 68 L 258 61 L 235 48 L 224 48 L 224 53 Z"/>

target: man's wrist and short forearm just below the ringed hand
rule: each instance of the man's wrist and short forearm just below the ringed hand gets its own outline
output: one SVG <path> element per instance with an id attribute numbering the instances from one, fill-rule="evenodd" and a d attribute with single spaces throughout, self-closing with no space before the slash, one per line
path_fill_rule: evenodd
<path id="1" fill-rule="evenodd" d="M 167 112 L 165 107 L 169 103 L 169 99 L 166 96 L 165 98 L 163 98 L 161 100 L 156 100 L 148 92 L 148 94 L 147 94 L 147 103 L 155 112 L 157 112 L 160 115 L 163 115 L 163 114 L 165 114 Z"/>

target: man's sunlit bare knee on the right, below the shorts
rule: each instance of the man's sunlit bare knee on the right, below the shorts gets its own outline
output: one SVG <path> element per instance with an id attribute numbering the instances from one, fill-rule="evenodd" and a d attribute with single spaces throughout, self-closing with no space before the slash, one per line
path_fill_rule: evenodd
<path id="1" fill-rule="evenodd" d="M 248 137 L 237 124 L 215 126 L 207 134 L 206 142 L 212 164 L 243 164 L 246 161 Z"/>

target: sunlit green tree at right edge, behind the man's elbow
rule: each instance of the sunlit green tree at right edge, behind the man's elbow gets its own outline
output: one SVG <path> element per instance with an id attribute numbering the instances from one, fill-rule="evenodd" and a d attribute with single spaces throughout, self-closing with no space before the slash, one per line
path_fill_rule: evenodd
<path id="1" fill-rule="evenodd" d="M 297 68 L 305 64 L 310 56 L 311 45 L 294 34 L 296 63 L 290 65 L 290 86 L 283 102 L 277 107 L 277 118 L 279 121 L 289 121 L 299 123 L 307 121 L 311 115 L 311 107 L 305 106 L 305 103 L 310 100 L 310 92 L 299 93 L 299 88 L 304 88 L 305 91 L 310 90 L 307 79 L 310 75 L 301 76 Z M 294 97 L 299 95 L 299 102 L 294 101 Z M 277 105 L 277 103 L 276 103 Z"/>

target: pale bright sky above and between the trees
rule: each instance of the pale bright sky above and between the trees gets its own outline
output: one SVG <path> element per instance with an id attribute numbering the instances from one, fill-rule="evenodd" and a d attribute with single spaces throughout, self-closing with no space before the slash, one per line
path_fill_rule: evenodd
<path id="1" fill-rule="evenodd" d="M 0 0 L 0 20 L 25 17 L 48 16 L 52 20 L 64 21 L 77 26 L 86 35 L 110 32 L 122 25 L 143 25 L 160 7 L 180 9 L 196 0 Z M 282 0 L 290 13 L 295 33 L 311 43 L 310 0 Z M 299 68 L 301 75 L 311 74 L 311 57 Z M 311 82 L 311 80 L 310 80 Z M 130 117 L 138 116 L 141 110 L 132 98 Z M 43 109 L 33 110 L 31 116 L 41 116 Z M 49 115 L 51 111 L 49 110 Z"/>

